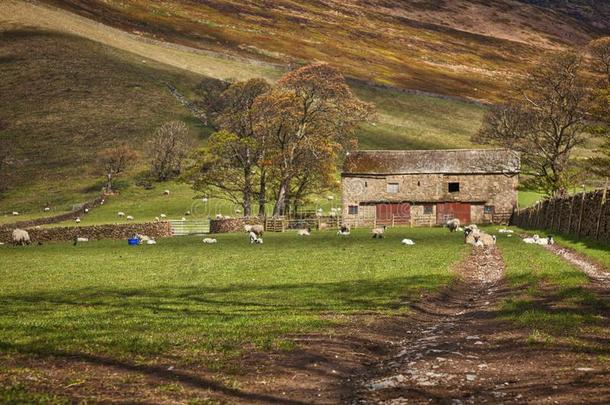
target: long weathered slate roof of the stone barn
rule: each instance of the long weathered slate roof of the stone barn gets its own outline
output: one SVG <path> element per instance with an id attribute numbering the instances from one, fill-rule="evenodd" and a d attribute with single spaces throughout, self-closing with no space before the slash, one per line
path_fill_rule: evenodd
<path id="1" fill-rule="evenodd" d="M 519 153 L 509 149 L 367 150 L 349 152 L 343 174 L 516 174 Z"/>

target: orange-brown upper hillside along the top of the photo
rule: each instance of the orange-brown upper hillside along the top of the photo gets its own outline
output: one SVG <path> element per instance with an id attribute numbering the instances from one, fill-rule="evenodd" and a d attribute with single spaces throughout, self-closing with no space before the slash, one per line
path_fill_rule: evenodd
<path id="1" fill-rule="evenodd" d="M 587 0 L 45 2 L 147 38 L 491 100 L 542 52 L 610 31 L 610 5 Z"/>

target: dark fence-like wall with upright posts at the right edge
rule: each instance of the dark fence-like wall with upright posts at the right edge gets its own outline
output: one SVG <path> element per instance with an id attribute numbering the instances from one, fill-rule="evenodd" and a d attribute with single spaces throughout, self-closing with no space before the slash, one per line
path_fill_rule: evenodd
<path id="1" fill-rule="evenodd" d="M 519 210 L 511 224 L 610 242 L 608 189 L 542 201 Z"/>

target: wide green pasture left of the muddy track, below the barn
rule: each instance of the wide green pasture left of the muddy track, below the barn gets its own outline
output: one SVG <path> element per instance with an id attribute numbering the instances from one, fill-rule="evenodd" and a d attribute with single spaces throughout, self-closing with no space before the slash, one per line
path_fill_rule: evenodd
<path id="1" fill-rule="evenodd" d="M 443 229 L 392 229 L 383 241 L 365 230 L 267 234 L 263 245 L 217 238 L 0 247 L 0 350 L 222 363 L 249 348 L 290 348 L 289 335 L 342 314 L 404 311 L 446 285 L 467 250 Z"/>

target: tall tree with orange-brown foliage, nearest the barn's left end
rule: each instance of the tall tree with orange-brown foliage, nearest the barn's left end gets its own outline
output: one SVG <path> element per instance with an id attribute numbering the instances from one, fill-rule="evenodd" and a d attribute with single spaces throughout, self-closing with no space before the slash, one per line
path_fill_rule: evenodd
<path id="1" fill-rule="evenodd" d="M 290 72 L 276 88 L 257 98 L 257 132 L 277 176 L 274 215 L 284 215 L 292 181 L 324 162 L 338 161 L 355 144 L 354 131 L 372 113 L 344 77 L 327 64 Z"/>

